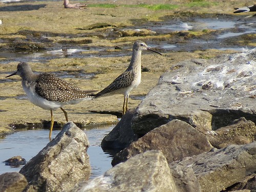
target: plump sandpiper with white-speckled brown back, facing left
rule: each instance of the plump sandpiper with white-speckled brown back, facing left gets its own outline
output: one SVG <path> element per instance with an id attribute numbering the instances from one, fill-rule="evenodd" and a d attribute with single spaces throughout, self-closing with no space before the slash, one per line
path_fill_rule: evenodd
<path id="1" fill-rule="evenodd" d="M 94 91 L 82 91 L 79 87 L 55 77 L 51 73 L 35 74 L 27 62 L 20 62 L 17 71 L 8 75 L 19 75 L 22 78 L 22 86 L 29 100 L 42 109 L 51 111 L 51 127 L 49 138 L 53 129 L 53 110 L 60 108 L 68 121 L 68 114 L 62 109 L 63 105 L 76 104 L 84 99 L 93 99 L 88 95 Z"/>

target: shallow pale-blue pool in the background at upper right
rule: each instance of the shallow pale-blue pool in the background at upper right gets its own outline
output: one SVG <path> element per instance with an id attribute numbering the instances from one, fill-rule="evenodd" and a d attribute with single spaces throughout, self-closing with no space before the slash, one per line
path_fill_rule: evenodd
<path id="1" fill-rule="evenodd" d="M 134 29 L 140 28 L 135 26 Z M 210 17 L 210 18 L 190 18 L 186 22 L 178 19 L 169 19 L 158 23 L 148 23 L 143 26 L 144 29 L 150 29 L 159 34 L 168 34 L 180 31 L 203 31 L 203 30 L 217 30 L 221 31 L 212 34 L 207 37 L 207 40 L 196 37 L 190 38 L 187 42 L 179 44 L 170 44 L 166 41 L 161 41 L 161 44 L 157 42 L 155 46 L 159 49 L 175 50 L 175 51 L 196 51 L 204 49 L 220 49 L 220 50 L 238 50 L 244 49 L 242 46 L 229 45 L 228 43 L 223 43 L 227 38 L 237 37 L 244 34 L 254 34 L 256 32 L 255 24 L 251 23 L 250 20 L 237 21 L 236 17 L 230 18 L 225 15 L 220 17 Z M 253 49 L 253 46 L 248 47 L 248 49 Z"/>

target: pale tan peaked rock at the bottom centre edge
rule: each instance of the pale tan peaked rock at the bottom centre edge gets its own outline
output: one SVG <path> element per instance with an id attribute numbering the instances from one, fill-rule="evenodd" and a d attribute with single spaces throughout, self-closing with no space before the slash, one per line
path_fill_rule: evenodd
<path id="1" fill-rule="evenodd" d="M 142 174 L 143 173 L 143 174 Z M 120 163 L 103 176 L 81 182 L 69 192 L 81 191 L 161 191 L 176 192 L 175 183 L 164 155 L 147 151 Z"/>

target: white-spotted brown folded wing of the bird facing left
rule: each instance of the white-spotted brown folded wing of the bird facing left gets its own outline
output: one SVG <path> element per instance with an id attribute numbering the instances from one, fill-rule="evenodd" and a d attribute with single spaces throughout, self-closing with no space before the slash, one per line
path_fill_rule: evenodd
<path id="1" fill-rule="evenodd" d="M 90 92 L 82 91 L 79 87 L 55 77 L 54 74 L 39 74 L 35 81 L 35 92 L 50 101 L 69 102 L 82 98 L 92 98 Z"/>

